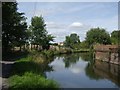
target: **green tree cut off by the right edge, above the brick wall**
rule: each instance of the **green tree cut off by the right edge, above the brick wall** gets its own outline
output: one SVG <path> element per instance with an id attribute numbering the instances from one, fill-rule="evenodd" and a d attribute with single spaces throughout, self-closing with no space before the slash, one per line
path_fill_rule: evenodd
<path id="1" fill-rule="evenodd" d="M 114 30 L 111 33 L 111 42 L 112 44 L 120 44 L 120 30 Z"/>

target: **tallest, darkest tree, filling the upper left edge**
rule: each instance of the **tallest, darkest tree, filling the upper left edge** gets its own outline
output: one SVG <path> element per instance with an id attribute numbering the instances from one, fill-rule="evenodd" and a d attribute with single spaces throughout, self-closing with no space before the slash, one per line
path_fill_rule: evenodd
<path id="1" fill-rule="evenodd" d="M 2 3 L 2 49 L 7 52 L 21 46 L 27 39 L 27 23 L 24 13 L 17 11 L 16 2 Z"/>

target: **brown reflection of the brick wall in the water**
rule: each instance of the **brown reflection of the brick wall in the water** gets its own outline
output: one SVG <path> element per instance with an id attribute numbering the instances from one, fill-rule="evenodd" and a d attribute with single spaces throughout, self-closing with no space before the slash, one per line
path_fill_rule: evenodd
<path id="1" fill-rule="evenodd" d="M 96 75 L 109 79 L 120 87 L 119 65 L 96 61 L 93 69 Z"/>

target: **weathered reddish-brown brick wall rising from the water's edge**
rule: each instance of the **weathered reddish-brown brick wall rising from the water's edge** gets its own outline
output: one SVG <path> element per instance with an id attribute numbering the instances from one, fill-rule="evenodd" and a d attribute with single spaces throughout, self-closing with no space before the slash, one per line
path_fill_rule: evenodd
<path id="1" fill-rule="evenodd" d="M 94 46 L 95 60 L 106 61 L 120 65 L 120 47 L 117 45 Z"/>

